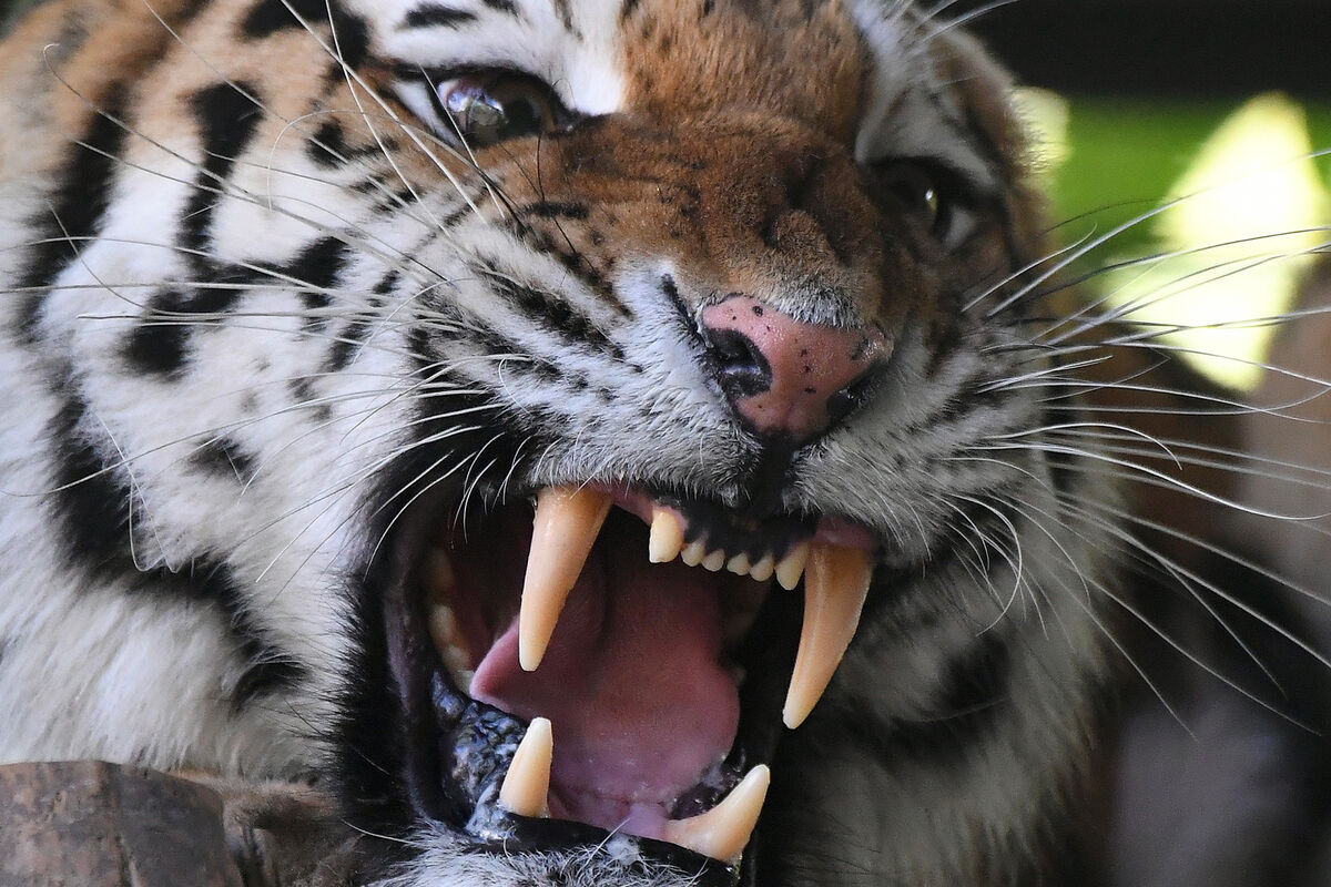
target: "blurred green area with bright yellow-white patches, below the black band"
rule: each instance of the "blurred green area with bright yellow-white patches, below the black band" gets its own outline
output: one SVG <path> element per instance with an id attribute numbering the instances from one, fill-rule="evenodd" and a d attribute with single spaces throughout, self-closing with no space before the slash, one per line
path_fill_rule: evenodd
<path id="1" fill-rule="evenodd" d="M 1095 270 L 1106 310 L 1187 327 L 1162 342 L 1219 382 L 1255 384 L 1274 318 L 1328 246 L 1331 105 L 1283 92 L 1024 100 L 1057 239 L 1103 239 L 1078 267 Z"/>

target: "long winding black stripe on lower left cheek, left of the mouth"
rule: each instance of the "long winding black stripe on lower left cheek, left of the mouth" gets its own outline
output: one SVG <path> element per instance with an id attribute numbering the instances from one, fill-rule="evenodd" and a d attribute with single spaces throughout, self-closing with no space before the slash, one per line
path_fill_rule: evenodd
<path id="1" fill-rule="evenodd" d="M 165 567 L 141 570 L 130 548 L 130 501 L 134 492 L 114 463 L 102 457 L 84 431 L 88 407 L 65 380 L 57 392 L 64 406 L 52 423 L 60 488 L 51 507 L 61 528 L 67 559 L 96 582 L 126 582 L 134 594 L 160 594 L 173 602 L 217 608 L 237 653 L 249 664 L 230 688 L 233 709 L 305 678 L 305 668 L 273 644 L 250 613 L 230 569 L 208 556 L 173 573 Z M 114 452 L 112 447 L 106 448 Z"/>

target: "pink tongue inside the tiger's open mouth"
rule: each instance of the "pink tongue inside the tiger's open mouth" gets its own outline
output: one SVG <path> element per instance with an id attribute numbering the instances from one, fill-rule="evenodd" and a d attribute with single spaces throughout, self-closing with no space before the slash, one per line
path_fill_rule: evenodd
<path id="1" fill-rule="evenodd" d="M 550 718 L 552 815 L 660 838 L 673 801 L 729 751 L 740 709 L 720 665 L 720 578 L 650 565 L 642 548 L 598 545 L 540 668 L 518 665 L 515 621 L 471 696 Z"/>

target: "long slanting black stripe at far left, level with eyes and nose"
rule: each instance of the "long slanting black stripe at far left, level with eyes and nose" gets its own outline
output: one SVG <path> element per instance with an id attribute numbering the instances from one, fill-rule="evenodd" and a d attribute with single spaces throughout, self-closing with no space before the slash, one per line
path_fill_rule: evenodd
<path id="1" fill-rule="evenodd" d="M 39 213 L 29 227 L 37 242 L 19 274 L 20 290 L 45 290 L 83 250 L 83 241 L 97 233 L 110 198 L 112 181 L 124 152 L 126 132 L 116 120 L 124 120 L 126 88 L 114 84 L 83 134 L 83 144 L 69 146 L 69 157 L 57 176 L 59 185 L 49 195 L 51 209 Z M 20 340 L 32 344 L 37 322 L 47 299 L 45 291 L 28 293 L 19 310 Z"/>

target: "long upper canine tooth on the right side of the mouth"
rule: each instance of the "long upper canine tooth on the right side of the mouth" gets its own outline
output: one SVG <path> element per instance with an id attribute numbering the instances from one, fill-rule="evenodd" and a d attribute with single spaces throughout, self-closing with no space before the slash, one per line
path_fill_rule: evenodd
<path id="1" fill-rule="evenodd" d="M 792 730 L 823 698 L 832 673 L 860 625 L 860 612 L 873 580 L 869 552 L 816 545 L 804 577 L 804 629 L 781 719 Z"/>

